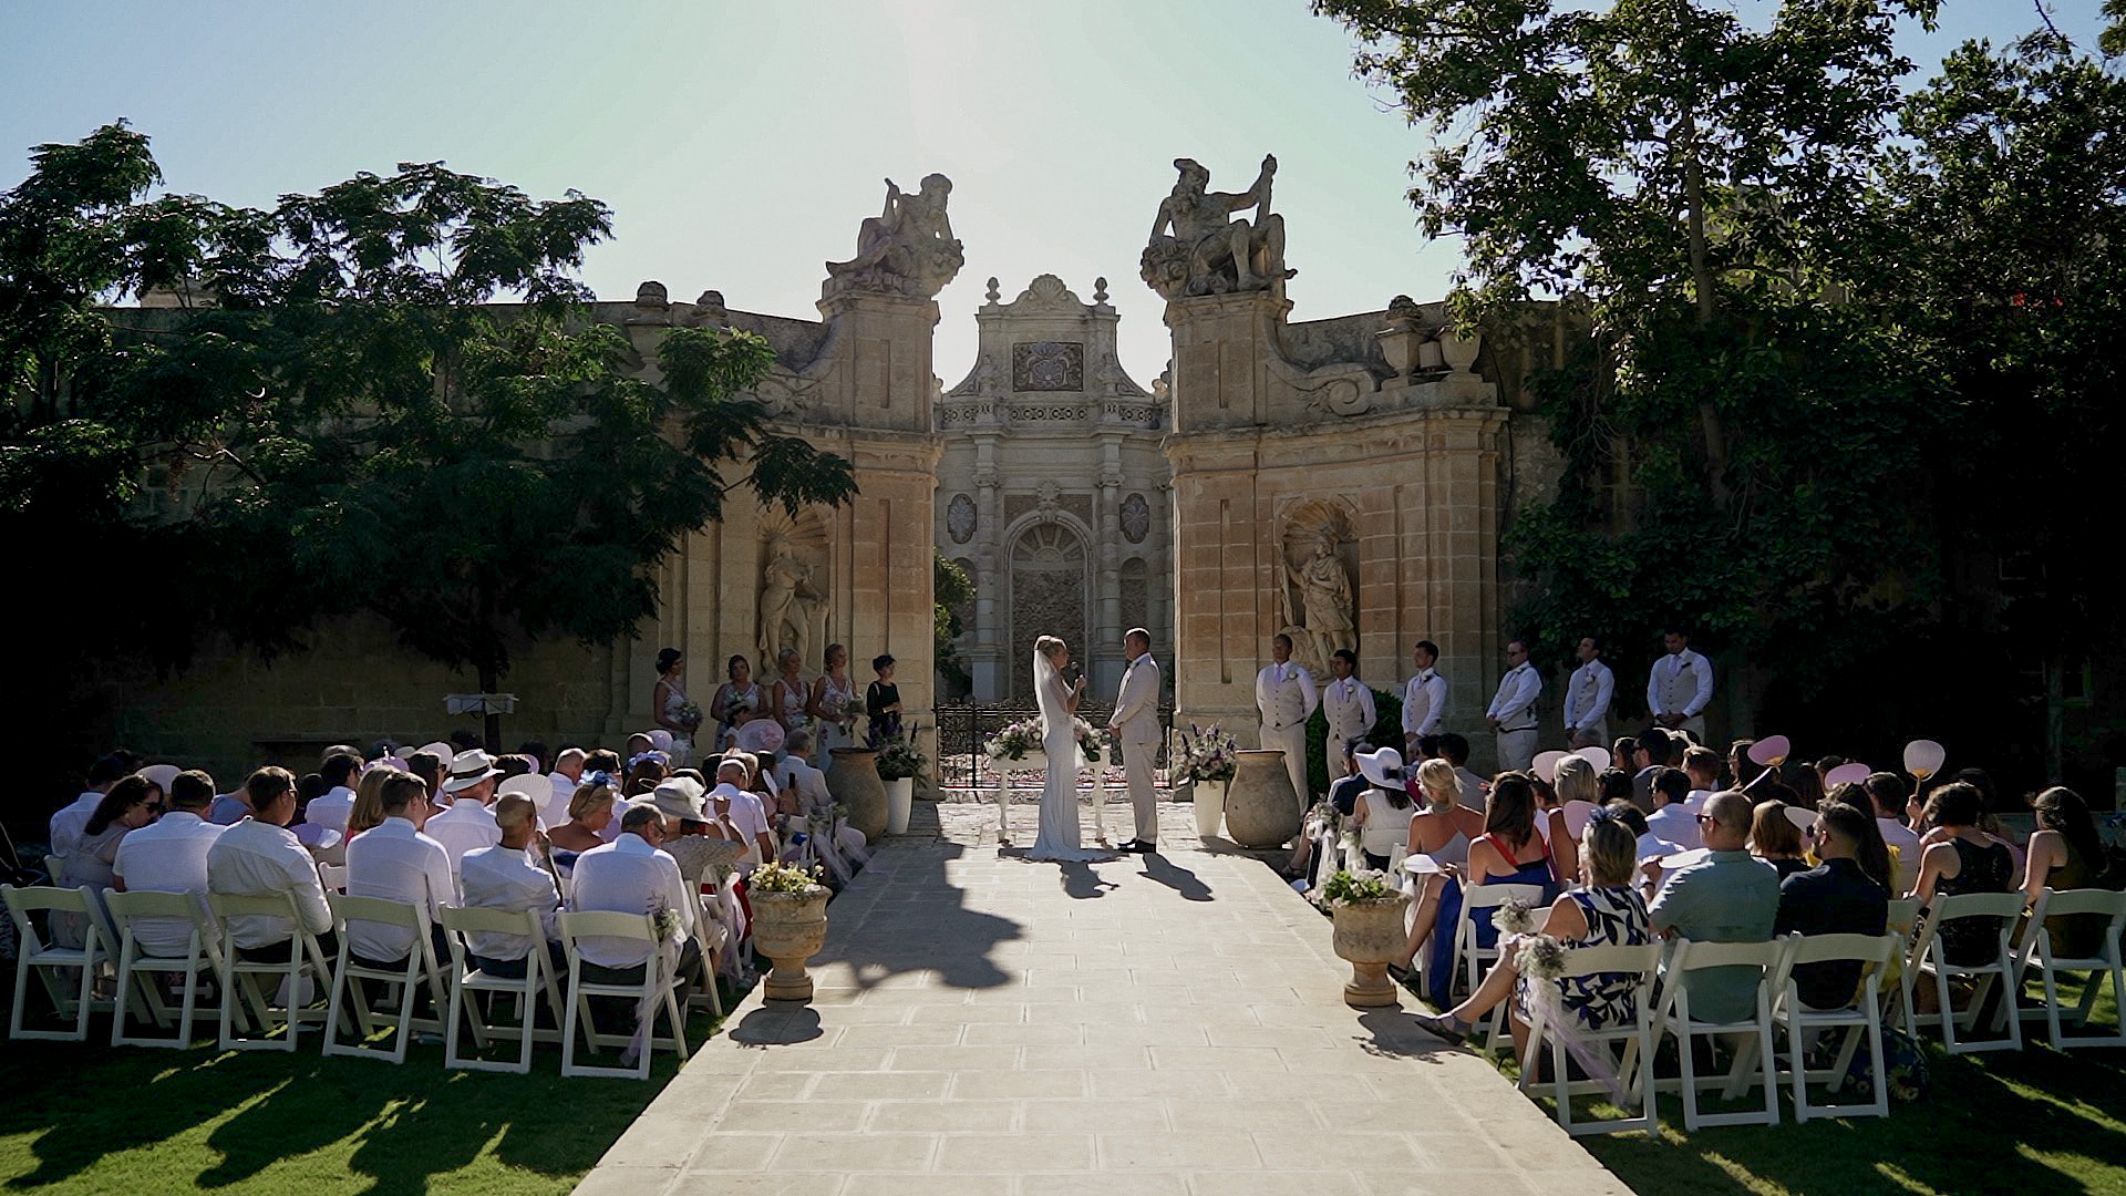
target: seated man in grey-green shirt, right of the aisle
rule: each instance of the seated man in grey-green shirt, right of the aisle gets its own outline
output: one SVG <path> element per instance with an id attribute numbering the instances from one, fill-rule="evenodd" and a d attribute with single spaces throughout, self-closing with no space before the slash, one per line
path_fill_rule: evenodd
<path id="1" fill-rule="evenodd" d="M 1705 798 L 1699 834 L 1709 856 L 1677 868 L 1648 907 L 1654 934 L 1692 943 L 1769 943 L 1779 915 L 1779 873 L 1750 856 L 1750 798 Z M 1690 973 L 1690 1017 L 1743 1021 L 1756 1015 L 1760 970 L 1750 966 Z"/>

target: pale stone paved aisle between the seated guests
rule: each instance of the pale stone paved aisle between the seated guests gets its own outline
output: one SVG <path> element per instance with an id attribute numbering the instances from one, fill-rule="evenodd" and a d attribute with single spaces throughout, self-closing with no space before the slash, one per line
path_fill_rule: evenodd
<path id="1" fill-rule="evenodd" d="M 740 1004 L 580 1194 L 1629 1192 L 1484 1060 L 1346 1007 L 1329 924 L 1188 807 L 1091 866 L 940 811 L 831 904 L 816 1002 Z"/>

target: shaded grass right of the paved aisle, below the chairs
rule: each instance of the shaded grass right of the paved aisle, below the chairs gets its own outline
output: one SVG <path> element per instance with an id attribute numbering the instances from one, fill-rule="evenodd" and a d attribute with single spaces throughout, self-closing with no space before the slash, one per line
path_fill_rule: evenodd
<path id="1" fill-rule="evenodd" d="M 2079 996 L 2079 987 L 2062 992 L 2069 1002 Z M 2117 1024 L 2109 985 L 2092 1021 Z M 1663 1096 L 1660 1139 L 1603 1134 L 1582 1143 L 1633 1192 L 1648 1194 L 2126 1194 L 2126 1049 L 2054 1051 L 2043 1034 L 2043 1021 L 2026 1021 L 2022 1051 L 1950 1058 L 1922 1030 L 1930 1094 L 1911 1104 L 1892 1100 L 1888 1119 L 1794 1124 L 1782 1092 L 1779 1126 L 1684 1136 L 1682 1100 Z"/>

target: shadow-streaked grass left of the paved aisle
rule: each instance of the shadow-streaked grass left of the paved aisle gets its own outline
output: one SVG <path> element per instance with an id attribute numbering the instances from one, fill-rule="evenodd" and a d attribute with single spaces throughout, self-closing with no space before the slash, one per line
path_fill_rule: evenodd
<path id="1" fill-rule="evenodd" d="M 36 1004 L 32 996 L 32 1004 Z M 213 1021 L 208 1021 L 213 1026 Z M 689 1019 L 689 1045 L 712 1032 Z M 302 1049 L 187 1051 L 89 1043 L 0 1049 L 0 1185 L 9 1192 L 302 1192 L 453 1196 L 568 1192 L 678 1073 L 561 1079 L 559 1047 L 532 1075 L 461 1073 L 442 1047 L 404 1066 Z M 514 1047 L 510 1047 L 514 1051 Z M 610 1062 L 610 1060 L 604 1060 Z"/>

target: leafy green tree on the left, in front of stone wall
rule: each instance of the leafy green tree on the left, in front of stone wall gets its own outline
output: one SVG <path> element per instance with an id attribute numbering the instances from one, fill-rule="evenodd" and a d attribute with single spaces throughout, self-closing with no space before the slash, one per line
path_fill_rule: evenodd
<path id="1" fill-rule="evenodd" d="M 62 166 L 102 189 L 45 202 Z M 442 164 L 272 211 L 142 202 L 153 181 L 145 138 L 113 126 L 40 147 L 0 200 L 0 272 L 64 262 L 68 243 L 111 258 L 0 309 L 0 353 L 30 345 L 0 358 L 30 398 L 0 502 L 34 521 L 51 496 L 85 496 L 96 519 L 183 545 L 200 562 L 183 577 L 196 628 L 272 653 L 366 611 L 493 692 L 512 643 L 631 634 L 657 609 L 653 568 L 731 489 L 789 511 L 855 494 L 848 462 L 738 398 L 772 360 L 765 340 L 674 328 L 653 379 L 625 334 L 587 319 L 574 272 L 610 232 L 597 200 L 532 200 Z M 21 213 L 62 249 L 9 238 Z M 206 302 L 87 306 L 179 279 Z M 19 381 L 43 377 L 60 381 Z M 85 477 L 53 487 L 70 470 Z M 145 511 L 151 475 L 176 500 Z M 179 664 L 189 636 L 140 647 Z"/>

